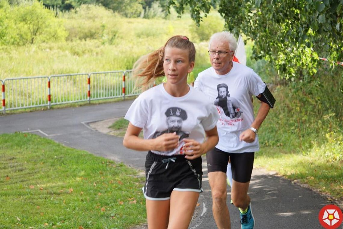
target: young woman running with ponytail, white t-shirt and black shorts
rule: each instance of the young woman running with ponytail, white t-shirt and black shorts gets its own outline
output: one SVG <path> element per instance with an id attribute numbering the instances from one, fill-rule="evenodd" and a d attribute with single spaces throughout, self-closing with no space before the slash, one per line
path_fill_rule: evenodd
<path id="1" fill-rule="evenodd" d="M 143 86 L 167 78 L 140 94 L 125 116 L 130 123 L 123 145 L 149 151 L 143 187 L 149 229 L 188 228 L 202 192 L 201 155 L 218 142 L 216 107 L 187 84 L 195 53 L 187 37 L 173 36 L 134 67 Z M 144 139 L 138 137 L 142 129 Z"/>

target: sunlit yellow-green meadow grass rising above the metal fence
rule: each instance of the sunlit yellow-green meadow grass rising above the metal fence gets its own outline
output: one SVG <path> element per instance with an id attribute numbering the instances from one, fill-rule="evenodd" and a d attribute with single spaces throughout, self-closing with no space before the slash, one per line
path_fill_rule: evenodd
<path id="1" fill-rule="evenodd" d="M 69 24 L 77 23 L 76 19 L 65 20 Z M 109 21 L 116 22 L 118 30 L 113 43 L 102 39 L 72 39 L 20 47 L 0 46 L 0 79 L 129 70 L 140 56 L 163 46 L 169 37 L 178 34 L 190 36 L 189 26 L 194 24 L 190 17 L 147 20 L 111 15 L 107 19 Z M 97 20 L 90 18 L 89 23 L 96 24 Z M 79 23 L 77 27 L 88 29 L 87 23 Z M 197 54 L 197 61 L 201 59 L 200 53 Z"/>

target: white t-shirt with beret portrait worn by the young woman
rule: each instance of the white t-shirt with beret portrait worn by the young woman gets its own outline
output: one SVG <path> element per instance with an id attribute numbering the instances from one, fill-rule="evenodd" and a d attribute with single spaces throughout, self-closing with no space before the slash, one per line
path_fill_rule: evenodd
<path id="1" fill-rule="evenodd" d="M 144 139 L 156 138 L 164 133 L 180 136 L 179 146 L 170 151 L 151 150 L 156 154 L 182 154 L 184 138 L 203 142 L 205 130 L 216 126 L 219 115 L 208 96 L 189 86 L 189 92 L 181 97 L 170 95 L 162 84 L 144 91 L 131 104 L 125 119 L 143 128 Z"/>

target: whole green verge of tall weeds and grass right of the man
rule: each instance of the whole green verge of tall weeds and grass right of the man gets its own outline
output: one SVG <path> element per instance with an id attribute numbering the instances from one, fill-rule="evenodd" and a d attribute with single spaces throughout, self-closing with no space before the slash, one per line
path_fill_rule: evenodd
<path id="1" fill-rule="evenodd" d="M 274 89 L 276 104 L 259 130 L 255 166 L 307 184 L 343 206 L 343 119 L 337 105 L 343 78 L 321 77 L 320 87 Z"/>

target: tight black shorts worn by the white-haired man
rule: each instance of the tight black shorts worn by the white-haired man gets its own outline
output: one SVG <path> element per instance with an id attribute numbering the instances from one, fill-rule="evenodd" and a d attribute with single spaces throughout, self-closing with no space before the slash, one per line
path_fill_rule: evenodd
<path id="1" fill-rule="evenodd" d="M 250 181 L 255 152 L 227 153 L 214 148 L 206 153 L 208 172 L 226 173 L 227 163 L 231 160 L 232 179 L 246 183 Z"/>

